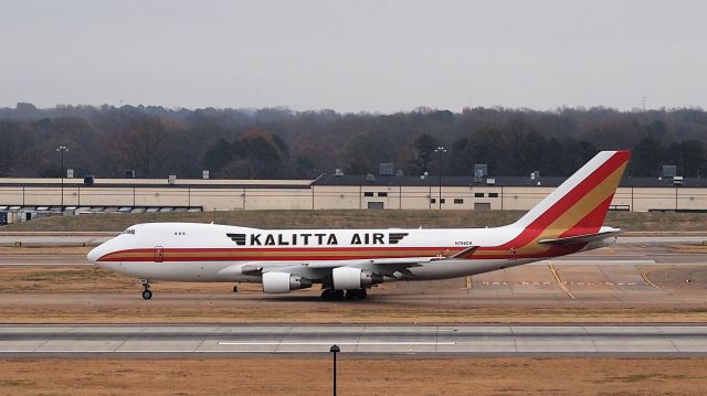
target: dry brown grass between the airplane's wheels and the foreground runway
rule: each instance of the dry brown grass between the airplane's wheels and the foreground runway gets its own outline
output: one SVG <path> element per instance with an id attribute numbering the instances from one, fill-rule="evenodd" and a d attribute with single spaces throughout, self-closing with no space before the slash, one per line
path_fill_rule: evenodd
<path id="1" fill-rule="evenodd" d="M 260 285 L 155 283 L 150 301 L 133 278 L 97 267 L 3 267 L 0 323 L 615 323 L 707 321 L 707 306 L 477 300 L 446 291 L 411 303 L 395 283 L 365 302 L 323 303 L 317 290 L 264 296 Z M 451 292 L 451 295 L 450 295 Z M 704 291 L 701 291 L 704 292 Z M 376 298 L 376 295 L 384 295 Z M 446 300 L 449 298 L 449 300 Z M 445 301 L 446 300 L 446 301 Z"/>

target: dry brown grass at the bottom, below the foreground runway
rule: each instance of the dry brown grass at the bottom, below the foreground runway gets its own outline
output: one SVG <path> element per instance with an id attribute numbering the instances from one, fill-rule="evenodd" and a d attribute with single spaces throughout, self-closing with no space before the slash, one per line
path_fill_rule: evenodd
<path id="1" fill-rule="evenodd" d="M 698 395 L 705 358 L 443 358 L 339 354 L 339 395 Z M 331 360 L 18 358 L 3 395 L 327 395 Z"/>

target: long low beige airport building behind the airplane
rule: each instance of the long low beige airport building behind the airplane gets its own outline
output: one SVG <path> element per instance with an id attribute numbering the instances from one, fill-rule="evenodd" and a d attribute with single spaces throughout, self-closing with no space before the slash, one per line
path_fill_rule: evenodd
<path id="1" fill-rule="evenodd" d="M 323 175 L 316 180 L 0 179 L 7 222 L 101 212 L 255 210 L 527 211 L 563 178 L 426 179 Z M 707 211 L 707 180 L 625 178 L 615 211 Z M 0 222 L 2 218 L 0 218 Z"/>

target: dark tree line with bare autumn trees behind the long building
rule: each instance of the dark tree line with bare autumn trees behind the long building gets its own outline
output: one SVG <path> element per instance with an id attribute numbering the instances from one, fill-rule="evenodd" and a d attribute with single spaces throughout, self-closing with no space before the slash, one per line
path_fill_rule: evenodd
<path id="1" fill-rule="evenodd" d="M 168 109 L 159 106 L 0 108 L 0 175 L 57 176 L 55 148 L 76 175 L 292 179 L 377 173 L 392 162 L 408 175 L 569 175 L 600 150 L 632 149 L 626 174 L 707 174 L 707 113 L 700 108 L 551 111 L 416 108 L 395 114 L 333 110 Z M 435 150 L 444 147 L 441 158 Z"/>

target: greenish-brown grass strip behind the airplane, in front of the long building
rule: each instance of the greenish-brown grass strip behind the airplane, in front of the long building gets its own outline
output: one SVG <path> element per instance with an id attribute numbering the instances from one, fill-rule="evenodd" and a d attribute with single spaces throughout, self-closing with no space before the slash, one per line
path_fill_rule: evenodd
<path id="1" fill-rule="evenodd" d="M 0 227 L 2 232 L 120 232 L 137 223 L 190 222 L 260 228 L 493 227 L 519 218 L 520 211 L 247 211 L 203 213 L 93 214 L 45 217 Z M 610 212 L 606 225 L 630 232 L 707 231 L 705 213 Z"/>

